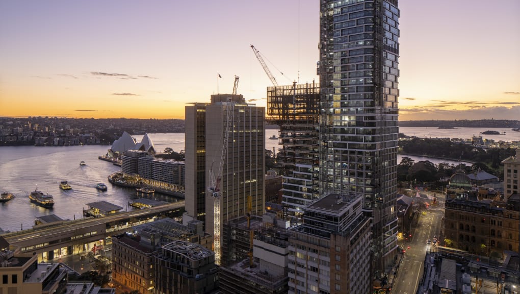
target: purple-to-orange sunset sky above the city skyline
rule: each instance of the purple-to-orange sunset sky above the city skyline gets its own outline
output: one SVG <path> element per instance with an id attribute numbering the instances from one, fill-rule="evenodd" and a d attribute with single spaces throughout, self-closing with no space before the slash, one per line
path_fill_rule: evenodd
<path id="1" fill-rule="evenodd" d="M 400 120 L 520 120 L 520 1 L 400 0 Z M 0 1 L 0 116 L 184 119 L 319 81 L 318 0 Z M 222 79 L 217 78 L 217 72 Z"/>

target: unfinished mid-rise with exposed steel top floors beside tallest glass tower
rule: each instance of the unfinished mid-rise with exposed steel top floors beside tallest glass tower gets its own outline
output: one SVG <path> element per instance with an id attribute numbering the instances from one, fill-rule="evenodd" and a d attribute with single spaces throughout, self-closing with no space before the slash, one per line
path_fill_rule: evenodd
<path id="1" fill-rule="evenodd" d="M 319 83 L 267 87 L 267 120 L 280 127 L 277 163 L 289 213 L 319 197 Z"/>

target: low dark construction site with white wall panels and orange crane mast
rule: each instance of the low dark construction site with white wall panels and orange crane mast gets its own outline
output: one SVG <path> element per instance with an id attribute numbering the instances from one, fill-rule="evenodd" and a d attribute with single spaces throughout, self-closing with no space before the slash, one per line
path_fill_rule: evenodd
<path id="1" fill-rule="evenodd" d="M 288 223 L 267 213 L 249 219 L 241 216 L 224 226 L 223 265 L 219 269 L 221 293 L 288 292 Z"/>

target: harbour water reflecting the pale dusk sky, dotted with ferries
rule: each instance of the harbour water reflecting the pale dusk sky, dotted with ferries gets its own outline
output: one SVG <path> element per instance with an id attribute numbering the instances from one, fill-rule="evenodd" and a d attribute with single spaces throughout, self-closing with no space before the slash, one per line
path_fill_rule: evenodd
<path id="1" fill-rule="evenodd" d="M 495 140 L 520 140 L 520 132 L 512 132 L 502 129 L 434 129 L 423 127 L 402 127 L 401 133 L 418 137 L 450 137 L 469 138 L 473 134 L 486 130 L 506 132 L 506 135 L 483 135 L 484 138 Z M 278 152 L 278 140 L 269 139 L 272 135 L 278 136 L 278 130 L 266 130 L 266 149 Z M 184 150 L 184 133 L 152 133 L 149 134 L 158 151 L 170 147 L 174 151 Z M 135 136 L 138 141 L 142 136 Z M 75 219 L 82 217 L 86 203 L 105 200 L 123 207 L 124 210 L 132 210 L 128 206 L 128 200 L 136 198 L 135 189 L 113 186 L 108 183 L 107 177 L 121 168 L 110 162 L 98 159 L 105 155 L 109 145 L 85 145 L 63 147 L 35 147 L 12 146 L 0 147 L 0 189 L 10 191 L 15 198 L 0 204 L 0 227 L 4 231 L 18 231 L 22 228 L 30 228 L 34 225 L 36 216 L 56 214 L 60 218 Z M 398 156 L 400 162 L 403 156 Z M 415 161 L 426 160 L 420 157 L 411 157 Z M 457 164 L 456 161 L 427 159 L 433 163 L 448 162 Z M 86 165 L 80 166 L 80 161 Z M 72 190 L 59 189 L 61 181 L 68 181 Z M 97 183 L 105 183 L 107 191 L 98 191 Z M 36 188 L 54 196 L 53 209 L 45 209 L 29 202 L 30 191 Z M 162 201 L 178 201 L 175 197 L 164 196 L 155 193 L 151 196 Z"/>

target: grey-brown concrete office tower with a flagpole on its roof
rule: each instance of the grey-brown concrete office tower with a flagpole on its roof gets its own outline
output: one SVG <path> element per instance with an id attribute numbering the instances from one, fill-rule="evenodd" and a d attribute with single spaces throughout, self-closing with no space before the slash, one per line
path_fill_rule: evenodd
<path id="1" fill-rule="evenodd" d="M 186 165 L 183 222 L 198 219 L 204 207 L 205 231 L 214 234 L 219 264 L 222 225 L 248 212 L 262 215 L 265 210 L 265 108 L 231 94 L 211 95 L 210 104 L 186 107 Z M 215 185 L 218 198 L 206 193 L 207 187 Z"/>

